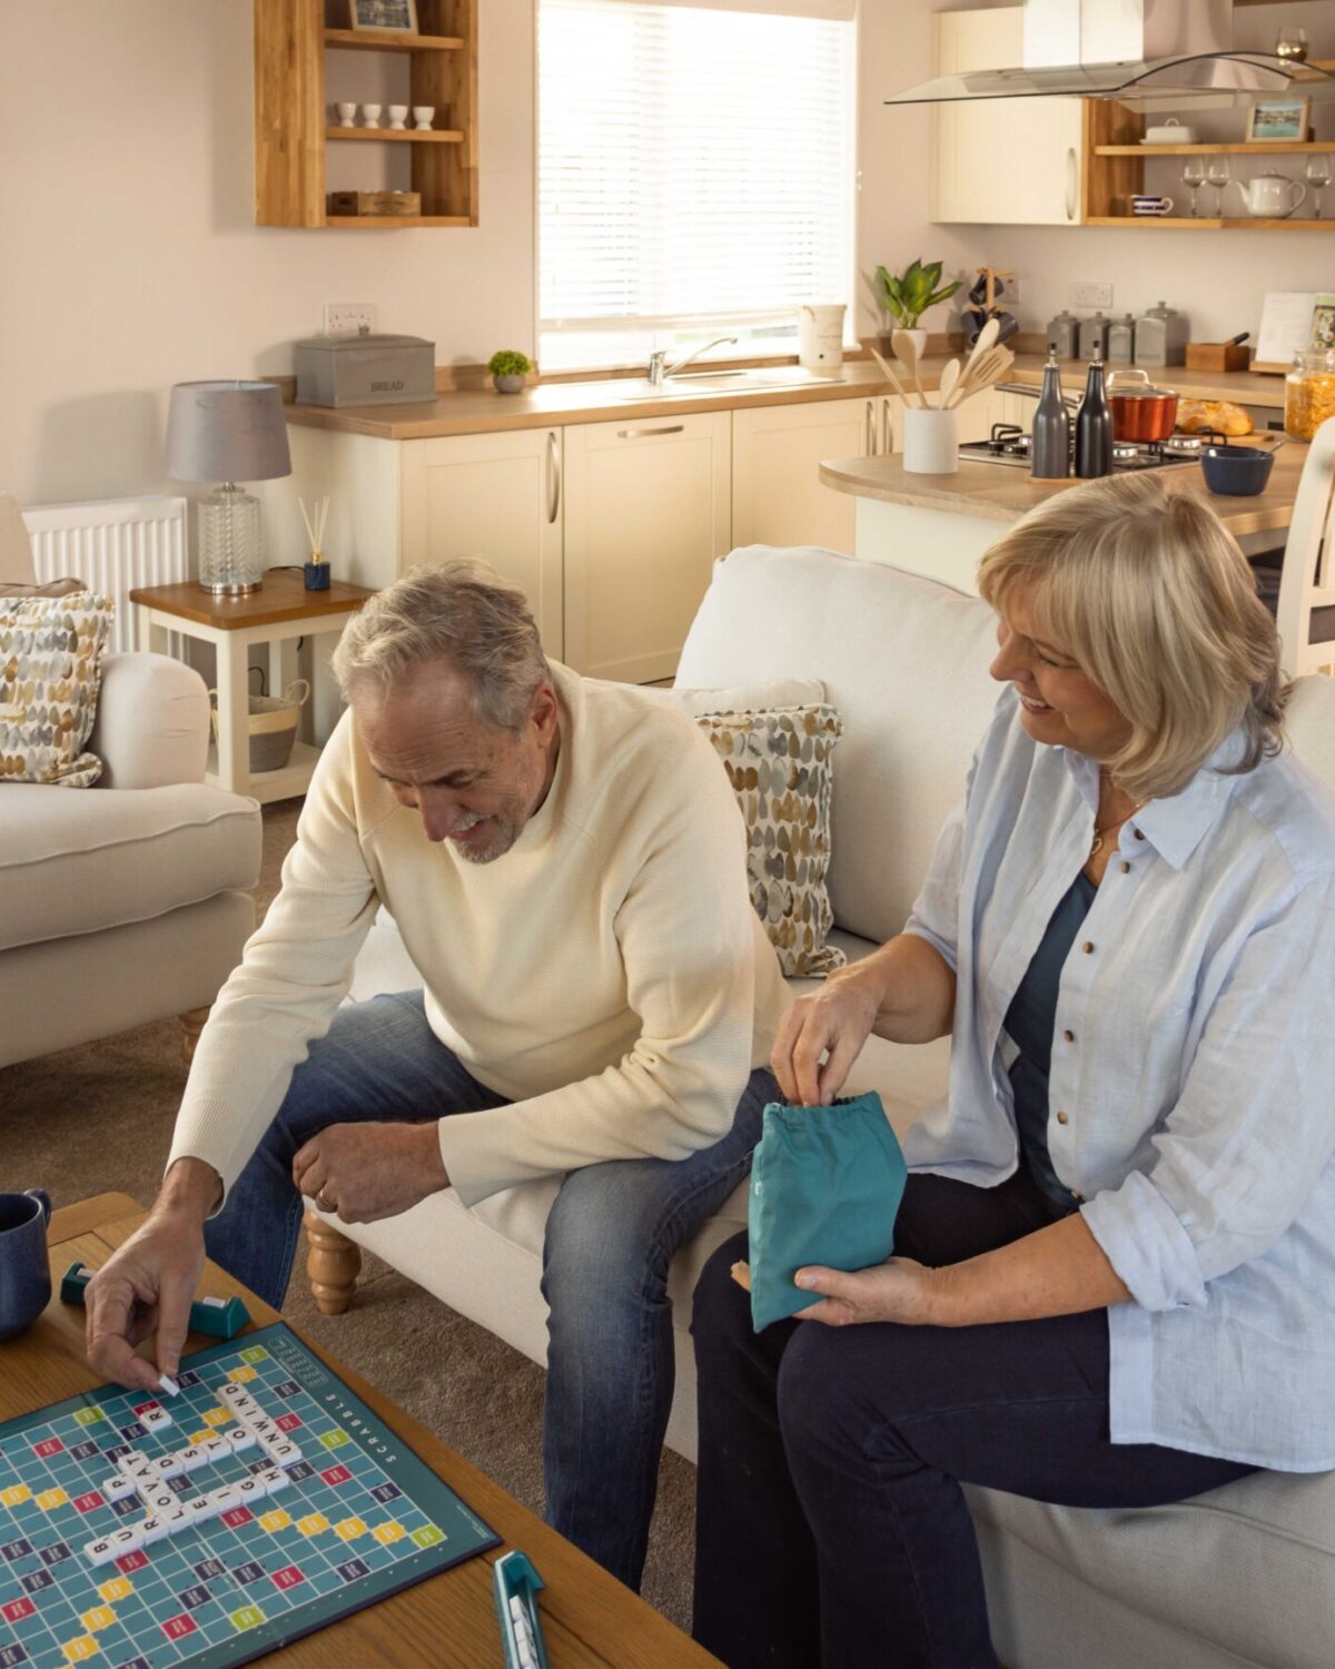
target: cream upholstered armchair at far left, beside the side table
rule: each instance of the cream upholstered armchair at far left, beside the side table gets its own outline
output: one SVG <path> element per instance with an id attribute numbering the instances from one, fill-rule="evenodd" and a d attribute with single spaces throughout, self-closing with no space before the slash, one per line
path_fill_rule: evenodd
<path id="1" fill-rule="evenodd" d="M 32 579 L 0 497 L 0 581 Z M 95 788 L 0 784 L 0 1066 L 169 1015 L 189 1058 L 255 925 L 260 811 L 204 783 L 199 673 L 107 656 L 88 746 Z"/>

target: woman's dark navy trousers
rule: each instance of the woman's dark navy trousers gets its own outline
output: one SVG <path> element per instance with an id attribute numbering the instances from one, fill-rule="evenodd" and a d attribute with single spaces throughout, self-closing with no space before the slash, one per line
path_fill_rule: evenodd
<path id="1" fill-rule="evenodd" d="M 1026 1170 L 911 1175 L 894 1250 L 940 1267 L 1053 1220 Z M 696 1639 L 729 1669 L 996 1669 L 965 1484 L 1153 1507 L 1250 1465 L 1108 1434 L 1108 1312 L 981 1327 L 776 1322 L 724 1242 L 696 1287 Z"/>

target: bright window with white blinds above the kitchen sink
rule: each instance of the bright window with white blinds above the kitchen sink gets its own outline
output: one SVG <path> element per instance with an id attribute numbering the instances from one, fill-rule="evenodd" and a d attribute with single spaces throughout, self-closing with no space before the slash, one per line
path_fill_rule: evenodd
<path id="1" fill-rule="evenodd" d="M 853 300 L 851 22 L 639 0 L 537 10 L 544 371 L 636 366 L 713 335 L 739 337 L 729 357 L 793 354 L 803 302 Z"/>

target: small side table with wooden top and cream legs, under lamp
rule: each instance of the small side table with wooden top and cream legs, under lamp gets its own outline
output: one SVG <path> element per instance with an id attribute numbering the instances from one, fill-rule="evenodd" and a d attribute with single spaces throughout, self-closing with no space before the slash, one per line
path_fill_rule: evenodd
<path id="1" fill-rule="evenodd" d="M 307 591 L 302 576 L 275 567 L 259 591 L 244 598 L 214 596 L 194 581 L 175 586 L 140 586 L 135 604 L 135 648 L 167 653 L 167 633 L 212 643 L 219 658 L 219 739 L 210 749 L 205 781 L 250 794 L 260 804 L 304 794 L 320 756 L 319 748 L 295 741 L 292 759 L 279 771 L 250 774 L 250 716 L 245 669 L 250 646 L 269 646 L 269 688 L 282 694 L 297 674 L 297 638 L 340 633 L 349 616 L 375 596 L 362 586 L 330 582 L 329 591 Z M 317 668 L 319 668 L 317 656 Z"/>

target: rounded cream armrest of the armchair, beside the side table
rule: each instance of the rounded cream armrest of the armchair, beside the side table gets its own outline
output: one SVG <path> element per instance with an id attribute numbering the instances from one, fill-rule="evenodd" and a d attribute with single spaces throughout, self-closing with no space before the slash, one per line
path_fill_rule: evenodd
<path id="1" fill-rule="evenodd" d="M 102 759 L 98 788 L 202 783 L 209 761 L 204 679 L 165 654 L 108 654 L 88 748 Z"/>

